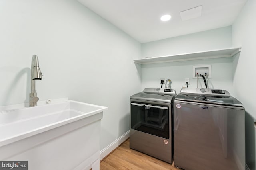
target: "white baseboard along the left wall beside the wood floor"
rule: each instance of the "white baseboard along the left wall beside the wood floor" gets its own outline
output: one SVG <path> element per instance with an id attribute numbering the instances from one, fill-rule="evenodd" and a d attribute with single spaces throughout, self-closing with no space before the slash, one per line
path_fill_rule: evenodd
<path id="1" fill-rule="evenodd" d="M 126 141 L 130 136 L 130 131 L 124 133 L 124 135 L 120 136 L 114 142 L 110 143 L 106 148 L 100 150 L 100 160 L 105 158 L 108 154 L 110 154 L 114 149 L 116 149 L 121 143 Z"/>

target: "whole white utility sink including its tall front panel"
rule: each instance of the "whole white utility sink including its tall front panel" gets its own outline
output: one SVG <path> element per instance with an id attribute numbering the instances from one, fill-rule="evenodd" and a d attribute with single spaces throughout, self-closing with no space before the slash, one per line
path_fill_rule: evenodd
<path id="1" fill-rule="evenodd" d="M 29 161 L 30 169 L 36 166 L 35 162 L 41 162 L 40 159 L 48 159 L 49 152 L 43 153 L 40 145 L 46 145 L 46 143 L 49 145 L 48 143 L 52 140 L 54 142 L 50 144 L 50 150 L 53 152 L 56 149 L 56 152 L 52 154 L 58 154 L 58 147 L 66 149 L 70 147 L 70 150 L 73 151 L 79 145 L 80 148 L 77 148 L 77 153 L 73 154 L 79 155 L 80 152 L 88 154 L 87 160 L 82 160 L 86 158 L 86 154 L 84 154 L 80 161 L 78 157 L 73 161 L 73 163 L 75 162 L 74 165 L 71 162 L 69 166 L 65 165 L 66 167 L 60 167 L 60 169 L 84 169 L 86 167 L 90 169 L 93 162 L 88 161 L 88 159 L 94 161 L 99 159 L 100 119 L 102 119 L 103 111 L 106 109 L 107 107 L 104 106 L 67 99 L 56 100 L 55 102 L 53 100 L 49 104 L 38 102 L 38 106 L 35 107 L 24 107 L 24 105 L 1 106 L 0 152 L 2 156 L 0 156 L 0 160 L 8 160 L 9 158 L 13 160 L 31 160 Z M 72 134 L 73 132 L 74 134 Z M 93 134 L 91 134 L 92 132 Z M 42 135 L 40 136 L 40 134 Z M 74 146 L 71 145 L 73 141 Z M 30 143 L 30 147 L 26 146 L 28 143 Z M 22 147 L 23 144 L 24 147 Z M 39 146 L 39 148 L 37 149 L 35 146 Z M 15 153 L 14 149 L 10 150 L 13 147 L 20 150 L 16 149 L 17 153 Z M 49 147 L 47 146 L 44 150 L 49 149 Z M 38 157 L 36 161 L 33 154 L 28 154 L 28 152 L 34 153 L 35 150 L 36 152 L 41 150 L 39 154 L 41 158 Z M 24 152 L 23 156 L 20 152 Z M 65 155 L 63 157 L 63 160 L 72 159 Z M 42 169 L 49 168 L 49 164 L 51 164 L 51 161 L 49 161 L 42 166 Z M 81 164 L 81 161 L 85 163 Z M 58 167 L 59 164 L 55 162 L 53 161 L 50 167 L 54 167 L 55 164 Z"/>

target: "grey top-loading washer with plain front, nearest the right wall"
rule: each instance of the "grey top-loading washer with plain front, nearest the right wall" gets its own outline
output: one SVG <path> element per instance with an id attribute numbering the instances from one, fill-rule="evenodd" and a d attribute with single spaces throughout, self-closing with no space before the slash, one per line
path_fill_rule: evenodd
<path id="1" fill-rule="evenodd" d="M 226 90 L 184 88 L 174 101 L 174 165 L 245 170 L 245 111 Z"/>

